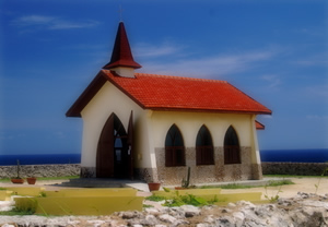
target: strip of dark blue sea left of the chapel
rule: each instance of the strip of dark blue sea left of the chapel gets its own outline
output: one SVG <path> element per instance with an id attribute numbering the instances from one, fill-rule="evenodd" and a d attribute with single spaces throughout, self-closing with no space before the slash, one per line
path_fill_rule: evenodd
<path id="1" fill-rule="evenodd" d="M 0 155 L 0 166 L 42 165 L 42 164 L 80 164 L 81 154 L 35 154 L 35 155 Z"/>

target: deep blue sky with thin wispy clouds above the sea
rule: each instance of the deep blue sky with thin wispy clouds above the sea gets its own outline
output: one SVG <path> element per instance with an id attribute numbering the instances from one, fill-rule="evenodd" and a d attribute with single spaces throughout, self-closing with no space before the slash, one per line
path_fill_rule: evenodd
<path id="1" fill-rule="evenodd" d="M 65 113 L 110 59 L 121 17 L 139 72 L 225 80 L 262 103 L 261 150 L 328 148 L 328 3 L 2 0 L 0 154 L 79 153 Z"/>

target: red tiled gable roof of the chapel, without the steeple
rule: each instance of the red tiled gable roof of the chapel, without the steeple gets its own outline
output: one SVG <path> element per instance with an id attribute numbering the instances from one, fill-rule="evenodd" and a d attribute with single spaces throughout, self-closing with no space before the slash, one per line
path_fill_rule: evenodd
<path id="1" fill-rule="evenodd" d="M 82 109 L 106 81 L 143 109 L 271 115 L 270 109 L 225 81 L 144 73 L 136 73 L 134 79 L 129 79 L 102 70 L 67 116 L 80 117 Z"/>

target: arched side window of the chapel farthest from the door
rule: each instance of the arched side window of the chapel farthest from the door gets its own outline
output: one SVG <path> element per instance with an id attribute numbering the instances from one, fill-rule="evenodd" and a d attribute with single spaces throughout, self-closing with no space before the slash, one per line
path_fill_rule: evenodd
<path id="1" fill-rule="evenodd" d="M 224 136 L 224 164 L 241 164 L 241 147 L 233 127 L 226 130 Z"/>

